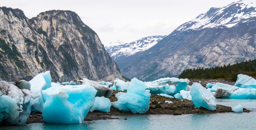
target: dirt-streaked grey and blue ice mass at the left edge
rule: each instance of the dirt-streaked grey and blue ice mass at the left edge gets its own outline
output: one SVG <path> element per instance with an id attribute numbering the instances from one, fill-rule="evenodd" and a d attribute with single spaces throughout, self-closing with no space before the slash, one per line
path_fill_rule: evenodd
<path id="1" fill-rule="evenodd" d="M 28 89 L 21 90 L 13 84 L 0 81 L 0 124 L 25 125 L 31 113 L 32 101 L 38 96 Z"/>

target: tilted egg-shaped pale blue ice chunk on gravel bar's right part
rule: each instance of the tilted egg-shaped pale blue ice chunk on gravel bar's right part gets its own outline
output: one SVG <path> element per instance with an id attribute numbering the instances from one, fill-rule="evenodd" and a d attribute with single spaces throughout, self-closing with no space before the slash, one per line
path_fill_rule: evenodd
<path id="1" fill-rule="evenodd" d="M 191 87 L 190 95 L 197 108 L 204 107 L 208 110 L 216 110 L 216 98 L 201 84 L 194 83 Z"/>

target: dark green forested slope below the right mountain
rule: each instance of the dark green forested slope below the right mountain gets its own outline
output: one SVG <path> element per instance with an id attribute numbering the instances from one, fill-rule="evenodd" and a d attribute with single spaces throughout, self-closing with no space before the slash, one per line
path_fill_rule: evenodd
<path id="1" fill-rule="evenodd" d="M 235 65 L 224 65 L 211 68 L 187 69 L 180 74 L 179 78 L 188 79 L 231 79 L 236 80 L 237 74 L 256 76 L 256 60 L 249 60 Z"/>

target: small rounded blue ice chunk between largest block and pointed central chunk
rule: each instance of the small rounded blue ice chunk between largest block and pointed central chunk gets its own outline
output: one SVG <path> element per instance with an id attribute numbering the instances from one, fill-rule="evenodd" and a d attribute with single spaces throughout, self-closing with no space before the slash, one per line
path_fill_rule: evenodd
<path id="1" fill-rule="evenodd" d="M 109 112 L 111 107 L 111 102 L 106 97 L 95 97 L 95 101 L 90 108 L 90 112 L 92 111 L 102 111 L 102 112 Z"/>

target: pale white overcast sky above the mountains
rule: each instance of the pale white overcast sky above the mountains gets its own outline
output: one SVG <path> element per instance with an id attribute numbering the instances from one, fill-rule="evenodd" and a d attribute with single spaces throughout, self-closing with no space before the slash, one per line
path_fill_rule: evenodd
<path id="1" fill-rule="evenodd" d="M 0 6 L 19 8 L 30 19 L 47 10 L 71 10 L 92 28 L 103 44 L 133 42 L 168 35 L 181 24 L 238 0 L 1 0 Z"/>

